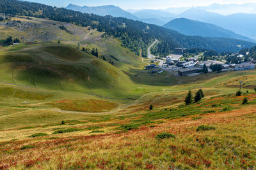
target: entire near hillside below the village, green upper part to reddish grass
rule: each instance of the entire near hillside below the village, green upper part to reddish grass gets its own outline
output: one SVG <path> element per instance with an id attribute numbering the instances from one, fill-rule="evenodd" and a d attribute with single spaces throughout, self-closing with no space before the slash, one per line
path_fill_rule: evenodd
<path id="1" fill-rule="evenodd" d="M 209 76 L 210 80 L 202 81 Z M 229 169 L 234 166 L 241 169 L 255 166 L 256 127 L 252 121 L 256 119 L 256 94 L 252 89 L 243 89 L 242 96 L 235 96 L 237 88 L 227 86 L 237 84 L 237 80 L 253 83 L 255 71 L 245 71 L 238 77 L 234 72 L 207 74 L 198 80 L 195 84 L 189 81 L 158 89 L 106 113 L 68 110 L 86 108 L 87 104 L 111 110 L 115 103 L 88 100 L 85 98 L 88 96 L 74 92 L 12 86 L 8 89 L 13 91 L 7 91 L 0 84 L 0 96 L 7 96 L 0 103 L 0 167 Z M 184 97 L 191 87 L 193 94 L 204 87 L 205 97 L 198 103 L 185 105 Z M 33 99 L 24 103 L 28 97 Z M 241 104 L 244 97 L 248 98 L 247 104 Z M 154 110 L 148 110 L 150 104 Z"/>

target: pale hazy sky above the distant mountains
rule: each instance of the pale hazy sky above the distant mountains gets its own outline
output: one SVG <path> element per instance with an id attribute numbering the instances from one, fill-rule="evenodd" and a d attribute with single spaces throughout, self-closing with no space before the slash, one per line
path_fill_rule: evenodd
<path id="1" fill-rule="evenodd" d="M 123 9 L 166 9 L 181 6 L 205 6 L 213 3 L 242 4 L 255 3 L 255 0 L 28 0 L 36 3 L 44 3 L 52 6 L 67 6 L 69 3 L 80 6 L 100 6 L 113 4 Z"/>

